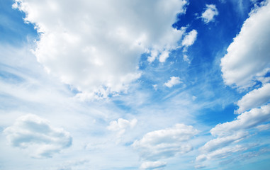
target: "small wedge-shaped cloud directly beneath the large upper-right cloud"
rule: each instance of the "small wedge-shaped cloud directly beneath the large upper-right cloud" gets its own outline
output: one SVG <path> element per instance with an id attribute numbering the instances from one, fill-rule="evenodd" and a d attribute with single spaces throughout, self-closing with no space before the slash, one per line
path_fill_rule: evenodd
<path id="1" fill-rule="evenodd" d="M 236 113 L 248 111 L 251 108 L 257 108 L 270 101 L 270 84 L 264 84 L 259 89 L 250 91 L 237 102 L 239 108 Z"/>

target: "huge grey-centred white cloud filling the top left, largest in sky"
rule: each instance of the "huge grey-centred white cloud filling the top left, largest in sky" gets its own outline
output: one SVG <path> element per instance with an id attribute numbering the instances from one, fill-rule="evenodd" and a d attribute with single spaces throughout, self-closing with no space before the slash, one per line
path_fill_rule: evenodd
<path id="1" fill-rule="evenodd" d="M 33 1 L 14 8 L 35 24 L 34 53 L 51 74 L 78 89 L 81 98 L 106 97 L 128 89 L 140 77 L 140 55 L 164 62 L 184 30 L 171 27 L 186 0 Z"/>

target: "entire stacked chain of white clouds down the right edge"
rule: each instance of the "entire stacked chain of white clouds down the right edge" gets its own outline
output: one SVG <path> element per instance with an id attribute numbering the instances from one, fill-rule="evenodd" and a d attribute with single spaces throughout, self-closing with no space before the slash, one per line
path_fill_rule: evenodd
<path id="1" fill-rule="evenodd" d="M 227 48 L 227 55 L 221 59 L 221 69 L 225 84 L 247 89 L 261 81 L 262 86 L 245 94 L 237 102 L 240 115 L 235 120 L 221 123 L 210 130 L 217 138 L 206 142 L 196 162 L 208 159 L 223 159 L 246 147 L 235 145 L 246 137 L 250 130 L 269 129 L 270 84 L 266 74 L 270 67 L 270 4 L 256 8 L 244 22 L 239 35 Z M 198 164 L 200 166 L 200 164 Z"/>

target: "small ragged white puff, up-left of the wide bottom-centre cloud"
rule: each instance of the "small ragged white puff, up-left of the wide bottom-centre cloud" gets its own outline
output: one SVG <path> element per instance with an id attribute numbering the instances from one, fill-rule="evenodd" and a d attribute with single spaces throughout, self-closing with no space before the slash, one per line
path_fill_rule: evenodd
<path id="1" fill-rule="evenodd" d="M 134 128 L 137 124 L 137 119 L 133 119 L 131 121 L 125 120 L 123 118 L 119 118 L 118 120 L 111 121 L 110 125 L 108 125 L 107 129 L 112 131 L 118 131 L 119 135 L 122 135 L 126 129 Z"/>

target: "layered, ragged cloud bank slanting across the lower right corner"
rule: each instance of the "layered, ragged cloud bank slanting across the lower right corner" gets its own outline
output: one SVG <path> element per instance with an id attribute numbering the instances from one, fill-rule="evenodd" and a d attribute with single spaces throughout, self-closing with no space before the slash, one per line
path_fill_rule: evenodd
<path id="1" fill-rule="evenodd" d="M 270 104 L 244 112 L 238 115 L 236 120 L 231 122 L 216 125 L 210 132 L 213 136 L 218 137 L 206 142 L 206 144 L 200 148 L 203 154 L 199 155 L 196 161 L 203 162 L 207 159 L 216 159 L 216 154 L 220 155 L 222 159 L 229 156 L 232 152 L 244 150 L 245 148 L 240 145 L 230 145 L 234 145 L 244 140 L 244 138 L 249 137 L 249 129 L 268 129 L 268 125 L 261 125 L 268 121 L 270 121 Z"/>

